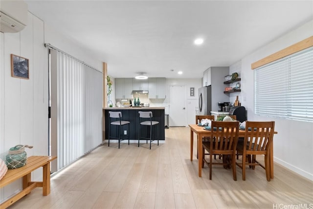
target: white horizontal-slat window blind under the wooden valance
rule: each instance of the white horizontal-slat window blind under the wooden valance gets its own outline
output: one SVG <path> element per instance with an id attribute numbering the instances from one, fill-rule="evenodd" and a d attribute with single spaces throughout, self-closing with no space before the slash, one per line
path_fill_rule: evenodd
<path id="1" fill-rule="evenodd" d="M 254 72 L 255 114 L 313 122 L 313 47 Z"/>

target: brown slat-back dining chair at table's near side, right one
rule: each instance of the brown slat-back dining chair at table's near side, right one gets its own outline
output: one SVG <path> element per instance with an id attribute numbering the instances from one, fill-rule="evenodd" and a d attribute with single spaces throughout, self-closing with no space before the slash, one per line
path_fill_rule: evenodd
<path id="1" fill-rule="evenodd" d="M 246 121 L 246 133 L 243 143 L 237 144 L 237 153 L 242 154 L 242 162 L 236 164 L 243 169 L 243 180 L 246 180 L 246 165 L 254 169 L 260 165 L 265 169 L 266 178 L 270 181 L 269 148 L 273 142 L 274 121 L 255 122 Z M 264 155 L 265 165 L 256 160 L 256 155 Z M 252 156 L 252 162 L 251 162 Z M 248 162 L 246 162 L 248 158 Z"/>

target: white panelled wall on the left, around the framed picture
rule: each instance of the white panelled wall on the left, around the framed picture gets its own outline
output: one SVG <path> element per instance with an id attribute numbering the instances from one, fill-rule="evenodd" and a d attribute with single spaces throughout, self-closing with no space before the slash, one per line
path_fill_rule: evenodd
<path id="1" fill-rule="evenodd" d="M 0 33 L 0 158 L 17 144 L 27 156 L 48 154 L 48 51 L 50 43 L 102 71 L 102 61 L 70 39 L 48 28 L 28 13 L 28 24 L 19 33 Z M 29 59 L 29 79 L 11 77 L 10 54 Z M 32 180 L 41 181 L 42 171 L 33 172 Z M 22 189 L 22 180 L 0 189 L 0 202 Z"/>

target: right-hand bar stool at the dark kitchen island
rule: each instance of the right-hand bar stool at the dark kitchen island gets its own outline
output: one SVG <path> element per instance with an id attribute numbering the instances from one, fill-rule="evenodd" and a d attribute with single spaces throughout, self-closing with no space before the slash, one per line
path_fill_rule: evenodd
<path id="1" fill-rule="evenodd" d="M 158 146 L 158 124 L 159 122 L 158 121 L 153 121 L 152 120 L 152 112 L 151 111 L 146 111 L 146 112 L 143 112 L 143 111 L 139 111 L 139 132 L 138 132 L 138 147 L 139 147 L 139 141 L 140 139 L 146 139 L 147 140 L 147 143 L 148 143 L 148 139 L 150 139 L 150 149 L 151 149 L 151 142 L 154 141 L 154 140 L 157 140 L 157 146 Z M 142 118 L 150 118 L 150 120 L 144 120 Z M 140 127 L 142 125 L 145 125 L 145 126 L 150 126 L 150 138 L 148 137 L 140 137 Z M 157 139 L 152 139 L 152 126 L 156 125 L 157 127 Z"/>

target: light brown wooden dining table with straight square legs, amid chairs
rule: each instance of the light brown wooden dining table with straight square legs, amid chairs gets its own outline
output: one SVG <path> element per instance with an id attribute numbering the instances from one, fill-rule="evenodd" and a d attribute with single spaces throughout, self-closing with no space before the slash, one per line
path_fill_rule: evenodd
<path id="1" fill-rule="evenodd" d="M 211 131 L 205 130 L 203 126 L 199 126 L 197 124 L 189 124 L 190 127 L 190 161 L 193 160 L 193 145 L 194 145 L 194 133 L 198 136 L 198 172 L 199 177 L 201 177 L 202 172 L 202 138 L 203 137 L 210 137 Z M 239 137 L 245 137 L 245 130 L 239 130 Z M 277 134 L 276 131 L 274 131 L 274 134 Z M 201 139 L 201 140 L 199 140 Z M 274 178 L 274 158 L 273 158 L 273 142 L 270 145 L 269 149 L 269 168 L 270 168 L 270 178 Z"/>

